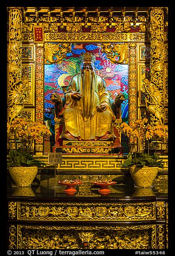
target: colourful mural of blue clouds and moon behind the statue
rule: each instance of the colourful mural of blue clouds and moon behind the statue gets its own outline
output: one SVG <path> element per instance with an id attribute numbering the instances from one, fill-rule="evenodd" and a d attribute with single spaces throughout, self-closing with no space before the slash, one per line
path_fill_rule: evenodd
<path id="1" fill-rule="evenodd" d="M 122 121 L 128 122 L 128 65 L 111 63 L 106 54 L 101 52 L 100 44 L 72 44 L 71 52 L 67 53 L 61 64 L 45 64 L 45 120 L 48 121 L 53 140 L 54 104 L 50 95 L 56 92 L 64 98 L 62 86 L 68 86 L 71 77 L 80 72 L 79 55 L 82 52 L 93 52 L 96 55 L 96 73 L 105 80 L 111 100 L 119 93 L 125 94 L 121 112 Z"/>

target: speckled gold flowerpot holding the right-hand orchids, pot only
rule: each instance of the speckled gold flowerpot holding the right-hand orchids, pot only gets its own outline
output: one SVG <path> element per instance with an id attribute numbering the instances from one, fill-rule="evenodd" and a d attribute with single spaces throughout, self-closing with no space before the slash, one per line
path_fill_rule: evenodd
<path id="1" fill-rule="evenodd" d="M 140 188 L 152 187 L 157 173 L 158 167 L 136 167 L 132 166 L 129 169 L 130 175 L 132 176 L 135 186 Z"/>

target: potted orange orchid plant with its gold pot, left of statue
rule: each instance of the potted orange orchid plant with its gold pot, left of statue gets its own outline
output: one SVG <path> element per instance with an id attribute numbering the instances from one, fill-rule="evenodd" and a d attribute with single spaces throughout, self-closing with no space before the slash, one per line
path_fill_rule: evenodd
<path id="1" fill-rule="evenodd" d="M 7 161 L 9 173 L 17 186 L 31 186 L 38 167 L 46 165 L 33 157 L 33 142 L 51 135 L 51 132 L 43 124 L 17 117 L 11 124 L 8 123 L 7 134 L 10 148 Z M 11 148 L 11 142 L 14 148 Z"/>

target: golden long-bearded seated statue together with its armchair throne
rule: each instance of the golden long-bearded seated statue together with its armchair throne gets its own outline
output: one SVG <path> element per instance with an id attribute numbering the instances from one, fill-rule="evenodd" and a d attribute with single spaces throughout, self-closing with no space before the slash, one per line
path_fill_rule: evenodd
<path id="1" fill-rule="evenodd" d="M 115 126 L 121 122 L 125 97 L 116 97 L 113 111 L 106 83 L 94 72 L 94 54 L 82 53 L 80 58 L 81 72 L 72 77 L 68 89 L 64 88 L 64 100 L 55 93 L 50 97 L 55 104 L 55 147 L 65 147 L 66 141 L 69 146 L 72 141 L 91 141 L 91 146 L 93 141 L 111 141 L 104 145 L 121 147 Z"/>

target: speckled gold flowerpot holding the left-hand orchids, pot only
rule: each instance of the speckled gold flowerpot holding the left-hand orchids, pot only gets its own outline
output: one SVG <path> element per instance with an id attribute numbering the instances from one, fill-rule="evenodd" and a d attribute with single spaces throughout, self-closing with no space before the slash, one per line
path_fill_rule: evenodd
<path id="1" fill-rule="evenodd" d="M 38 167 L 10 167 L 9 173 L 17 187 L 30 187 L 35 176 L 37 176 Z"/>

